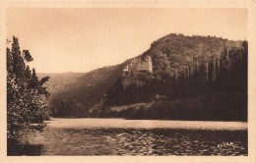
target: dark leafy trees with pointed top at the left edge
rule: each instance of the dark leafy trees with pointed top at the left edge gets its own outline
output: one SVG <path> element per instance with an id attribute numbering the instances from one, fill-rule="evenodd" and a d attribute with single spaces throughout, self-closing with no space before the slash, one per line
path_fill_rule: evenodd
<path id="1" fill-rule="evenodd" d="M 19 40 L 13 37 L 12 50 L 7 48 L 7 135 L 19 140 L 27 130 L 41 130 L 43 120 L 49 115 L 43 95 L 49 93 L 43 84 L 49 78 L 38 81 L 35 70 L 26 63 L 32 61 L 29 50 L 21 55 Z M 35 124 L 34 124 L 35 123 Z"/>

